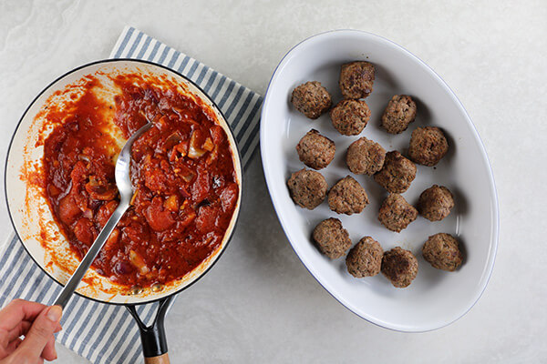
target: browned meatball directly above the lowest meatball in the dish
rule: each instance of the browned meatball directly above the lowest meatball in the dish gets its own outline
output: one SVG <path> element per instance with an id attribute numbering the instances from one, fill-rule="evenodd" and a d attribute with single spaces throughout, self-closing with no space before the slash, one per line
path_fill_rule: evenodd
<path id="1" fill-rule="evenodd" d="M 378 220 L 391 231 L 400 232 L 418 217 L 418 210 L 405 197 L 389 194 L 378 213 Z"/>

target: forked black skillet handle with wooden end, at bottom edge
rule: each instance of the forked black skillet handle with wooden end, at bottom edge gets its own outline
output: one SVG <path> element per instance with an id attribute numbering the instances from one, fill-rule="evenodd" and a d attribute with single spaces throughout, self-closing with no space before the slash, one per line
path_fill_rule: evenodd
<path id="1" fill-rule="evenodd" d="M 146 326 L 139 318 L 135 305 L 128 305 L 129 313 L 137 321 L 140 331 L 140 341 L 142 342 L 142 353 L 146 364 L 169 364 L 169 355 L 167 354 L 167 339 L 165 337 L 165 314 L 170 308 L 173 296 L 161 298 L 156 317 L 150 326 Z"/>

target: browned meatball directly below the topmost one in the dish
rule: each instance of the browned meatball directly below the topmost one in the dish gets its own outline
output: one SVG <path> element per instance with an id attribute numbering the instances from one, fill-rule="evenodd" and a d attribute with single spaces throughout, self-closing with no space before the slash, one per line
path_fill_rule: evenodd
<path id="1" fill-rule="evenodd" d="M 365 100 L 342 100 L 330 112 L 333 126 L 344 136 L 356 136 L 370 119 Z"/>

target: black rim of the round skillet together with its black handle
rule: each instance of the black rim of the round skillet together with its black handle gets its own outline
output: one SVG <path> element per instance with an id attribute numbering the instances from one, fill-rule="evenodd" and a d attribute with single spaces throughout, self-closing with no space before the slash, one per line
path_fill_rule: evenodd
<path id="1" fill-rule="evenodd" d="M 224 116 L 224 114 L 222 113 L 219 106 L 217 106 L 216 103 L 214 101 L 212 101 L 211 97 L 209 97 L 201 89 L 200 86 L 196 85 L 187 76 L 183 76 L 183 75 L 181 75 L 181 73 L 179 73 L 179 72 L 177 72 L 173 69 L 170 69 L 167 66 L 162 66 L 162 65 L 159 65 L 157 63 L 142 60 L 142 59 L 133 59 L 133 58 L 102 59 L 102 60 L 90 62 L 90 63 L 82 65 L 82 66 L 77 66 L 76 68 L 68 71 L 67 73 L 65 73 L 61 76 L 58 76 L 54 81 L 50 82 L 42 91 L 40 91 L 40 93 L 38 95 L 36 95 L 36 97 L 32 100 L 32 102 L 26 107 L 26 110 L 23 113 L 23 116 L 21 116 L 21 118 L 19 119 L 19 122 L 17 123 L 17 126 L 15 126 L 15 131 L 14 131 L 13 136 L 11 136 L 11 138 L 10 138 L 9 146 L 7 147 L 7 154 L 5 156 L 5 167 L 4 167 L 5 203 L 7 205 L 7 212 L 8 212 L 8 215 L 9 215 L 9 219 L 10 219 L 10 221 L 12 223 L 12 226 L 14 227 L 14 230 L 15 230 L 15 235 L 17 236 L 17 238 L 21 242 L 21 245 L 23 245 L 23 248 L 25 248 L 26 253 L 28 254 L 28 256 L 35 262 L 36 266 L 38 266 L 43 272 L 46 273 L 46 275 L 49 278 L 52 278 L 58 285 L 63 287 L 63 285 L 57 280 L 57 278 L 53 277 L 49 272 L 47 272 L 46 269 L 44 269 L 42 267 L 42 265 L 39 264 L 36 261 L 36 259 L 32 256 L 32 254 L 30 254 L 30 251 L 28 251 L 28 249 L 26 248 L 26 245 L 23 242 L 23 239 L 21 238 L 21 235 L 19 234 L 19 231 L 17 231 L 17 227 L 15 226 L 14 218 L 12 217 L 11 207 L 10 207 L 9 201 L 7 199 L 7 163 L 8 163 L 9 157 L 10 157 L 11 147 L 13 145 L 15 135 L 17 134 L 17 131 L 19 130 L 19 126 L 21 126 L 21 123 L 23 122 L 23 119 L 25 118 L 26 114 L 28 113 L 28 110 L 30 109 L 30 107 L 35 105 L 36 100 L 40 96 L 42 96 L 51 86 L 55 85 L 59 80 L 65 78 L 66 76 L 68 76 L 70 74 L 73 74 L 73 73 L 79 71 L 82 68 L 86 68 L 88 66 L 106 64 L 106 63 L 116 63 L 116 62 L 135 62 L 135 63 L 148 65 L 148 66 L 156 66 L 156 67 L 164 69 L 164 70 L 166 70 L 170 73 L 173 73 L 177 76 L 180 76 L 186 82 L 188 82 L 189 84 L 191 84 L 192 86 L 195 86 L 198 90 L 200 90 L 202 96 L 204 96 L 204 98 L 211 103 L 212 108 L 214 109 L 214 111 L 218 115 L 222 116 L 222 121 L 226 124 L 226 126 L 228 126 L 228 131 L 230 132 L 230 135 L 232 136 L 233 143 L 235 144 L 235 146 L 233 146 L 233 148 L 232 148 L 232 149 L 235 149 L 235 150 L 232 150 L 232 153 L 234 154 L 235 157 L 237 157 L 237 159 L 239 161 L 239 165 L 240 165 L 240 170 L 241 170 L 241 175 L 239 176 L 240 177 L 239 178 L 240 179 L 239 180 L 240 206 L 238 207 L 238 209 L 236 211 L 236 216 L 235 216 L 235 219 L 234 219 L 234 222 L 233 222 L 233 227 L 232 227 L 232 231 L 230 232 L 230 236 L 226 239 L 226 243 L 222 247 L 221 251 L 218 253 L 217 257 L 214 259 L 214 261 L 212 261 L 212 263 L 207 268 L 205 268 L 197 278 L 195 278 L 193 281 L 191 281 L 191 283 L 187 284 L 184 287 L 178 288 L 177 290 L 175 290 L 174 292 L 171 292 L 167 296 L 160 297 L 160 298 L 153 298 L 153 299 L 145 300 L 145 301 L 142 301 L 142 302 L 139 302 L 139 303 L 108 302 L 108 301 L 100 300 L 98 298 L 91 298 L 91 297 L 88 297 L 88 296 L 84 296 L 84 295 L 78 293 L 77 291 L 74 292 L 79 297 L 87 298 L 87 299 L 93 300 L 95 302 L 104 303 L 104 304 L 108 304 L 108 305 L 115 305 L 115 306 L 125 306 L 126 308 L 128 308 L 129 313 L 131 314 L 131 316 L 133 316 L 133 318 L 137 321 L 137 323 L 139 325 L 140 338 L 142 340 L 144 356 L 146 358 L 150 358 L 150 357 L 160 356 L 160 355 L 165 354 L 167 352 L 167 340 L 165 338 L 165 330 L 163 329 L 163 321 L 164 321 L 164 318 L 165 318 L 165 314 L 167 313 L 168 309 L 170 308 L 170 302 L 175 297 L 175 295 L 181 293 L 181 291 L 183 291 L 184 289 L 191 287 L 194 283 L 196 283 L 198 280 L 200 280 L 205 274 L 207 274 L 209 272 L 209 270 L 221 258 L 222 254 L 224 253 L 224 251 L 226 250 L 226 248 L 228 247 L 228 245 L 232 241 L 233 233 L 235 232 L 235 228 L 237 226 L 237 223 L 238 223 L 238 220 L 239 220 L 239 217 L 240 217 L 241 204 L 243 203 L 243 166 L 242 166 L 242 157 L 241 157 L 241 154 L 240 154 L 239 146 L 237 144 L 237 140 L 235 139 L 235 136 L 233 136 L 232 126 L 230 126 L 230 124 L 228 124 L 228 121 L 226 120 L 226 116 Z M 232 218 L 234 218 L 234 217 L 232 217 Z M 139 319 L 139 315 L 137 314 L 137 311 L 136 311 L 135 307 L 140 306 L 140 305 L 146 305 L 146 304 L 153 303 L 153 302 L 159 302 L 160 305 L 158 307 L 158 312 L 156 314 L 156 317 L 152 321 L 152 324 L 149 327 L 147 327 Z"/>

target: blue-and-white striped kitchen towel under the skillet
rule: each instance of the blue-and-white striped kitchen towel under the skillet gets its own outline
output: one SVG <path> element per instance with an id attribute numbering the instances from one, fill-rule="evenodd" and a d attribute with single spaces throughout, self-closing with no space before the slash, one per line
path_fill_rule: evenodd
<path id="1" fill-rule="evenodd" d="M 134 27 L 123 30 L 110 57 L 149 60 L 190 78 L 221 108 L 232 126 L 243 166 L 249 165 L 258 146 L 263 101 L 260 95 Z M 0 307 L 14 298 L 51 304 L 60 290 L 36 266 L 12 232 L 0 247 Z M 139 306 L 139 315 L 145 323 L 153 319 L 156 306 Z M 75 296 L 61 323 L 64 329 L 57 335 L 57 341 L 92 363 L 140 361 L 139 330 L 124 307 Z"/>

